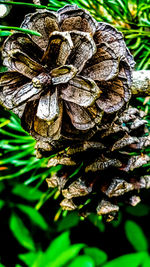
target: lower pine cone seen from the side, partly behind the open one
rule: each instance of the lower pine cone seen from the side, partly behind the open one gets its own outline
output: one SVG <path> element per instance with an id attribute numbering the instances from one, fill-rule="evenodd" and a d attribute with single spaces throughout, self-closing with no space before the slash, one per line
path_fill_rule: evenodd
<path id="1" fill-rule="evenodd" d="M 118 202 L 132 206 L 140 202 L 140 189 L 150 188 L 150 175 L 143 175 L 143 165 L 150 157 L 140 152 L 150 146 L 144 116 L 143 111 L 129 106 L 112 122 L 102 119 L 90 140 L 72 145 L 49 160 L 49 167 L 64 165 L 47 179 L 49 187 L 62 192 L 63 209 L 78 208 L 82 216 L 97 211 L 111 221 L 119 211 Z"/>

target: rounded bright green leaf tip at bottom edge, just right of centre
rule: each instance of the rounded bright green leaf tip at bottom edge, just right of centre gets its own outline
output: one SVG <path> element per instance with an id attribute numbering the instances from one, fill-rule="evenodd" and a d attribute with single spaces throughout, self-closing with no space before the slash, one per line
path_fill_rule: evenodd
<path id="1" fill-rule="evenodd" d="M 94 261 L 89 256 L 78 256 L 68 267 L 94 267 Z"/>

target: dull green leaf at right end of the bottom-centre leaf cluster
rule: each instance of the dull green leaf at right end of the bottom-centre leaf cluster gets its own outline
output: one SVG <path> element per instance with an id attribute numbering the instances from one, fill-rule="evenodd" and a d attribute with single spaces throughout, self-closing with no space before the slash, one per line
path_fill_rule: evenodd
<path id="1" fill-rule="evenodd" d="M 98 248 L 84 248 L 84 253 L 94 260 L 96 266 L 103 264 L 105 261 L 107 261 L 107 254 Z"/>

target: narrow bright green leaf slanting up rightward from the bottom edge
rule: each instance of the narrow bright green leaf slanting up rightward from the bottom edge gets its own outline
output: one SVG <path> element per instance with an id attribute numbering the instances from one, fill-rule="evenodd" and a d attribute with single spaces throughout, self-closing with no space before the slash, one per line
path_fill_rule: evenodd
<path id="1" fill-rule="evenodd" d="M 62 243 L 63 244 L 63 243 Z M 62 245 L 63 246 L 63 245 Z M 84 247 L 84 244 L 75 244 L 70 246 L 67 250 L 63 251 L 60 255 L 57 254 L 55 260 L 48 262 L 45 267 L 61 267 L 66 266 L 66 264 L 75 258 L 80 250 Z M 59 256 L 58 256 L 59 255 Z"/>

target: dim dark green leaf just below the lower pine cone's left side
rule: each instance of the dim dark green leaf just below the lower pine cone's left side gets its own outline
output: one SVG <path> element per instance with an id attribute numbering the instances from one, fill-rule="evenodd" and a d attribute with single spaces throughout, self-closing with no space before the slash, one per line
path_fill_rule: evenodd
<path id="1" fill-rule="evenodd" d="M 57 230 L 59 232 L 68 230 L 71 227 L 76 226 L 80 221 L 80 217 L 77 212 L 70 212 L 63 219 L 58 221 Z"/>

